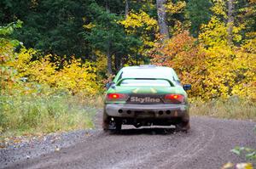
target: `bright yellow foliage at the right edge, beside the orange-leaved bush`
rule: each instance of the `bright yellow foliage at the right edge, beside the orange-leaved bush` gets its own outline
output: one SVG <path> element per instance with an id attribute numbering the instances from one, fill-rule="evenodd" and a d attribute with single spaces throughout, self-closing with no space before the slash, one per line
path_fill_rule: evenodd
<path id="1" fill-rule="evenodd" d="M 233 41 L 241 41 L 240 31 L 245 25 L 233 27 Z M 201 26 L 199 41 L 206 56 L 207 78 L 204 80 L 205 92 L 212 93 L 207 97 L 230 97 L 239 95 L 256 99 L 256 50 L 253 32 L 241 47 L 229 46 L 227 25 L 216 16 L 207 25 Z"/>

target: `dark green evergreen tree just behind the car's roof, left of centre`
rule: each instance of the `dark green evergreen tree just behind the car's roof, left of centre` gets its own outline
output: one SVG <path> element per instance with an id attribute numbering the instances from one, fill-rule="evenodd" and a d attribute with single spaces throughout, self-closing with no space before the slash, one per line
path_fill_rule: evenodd
<path id="1" fill-rule="evenodd" d="M 118 23 L 122 18 L 117 14 L 110 13 L 96 3 L 90 5 L 90 9 L 95 19 L 84 31 L 84 39 L 90 42 L 91 52 L 96 50 L 106 54 L 108 59 L 108 73 L 113 74 L 114 70 L 119 70 L 122 59 L 125 55 L 132 54 L 131 48 L 140 46 L 141 42 L 137 37 L 126 35 L 124 27 Z M 115 64 L 113 66 L 113 59 Z"/>

